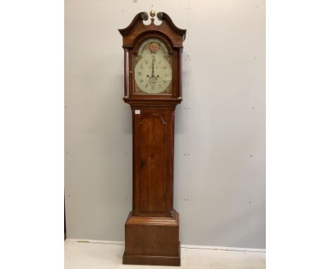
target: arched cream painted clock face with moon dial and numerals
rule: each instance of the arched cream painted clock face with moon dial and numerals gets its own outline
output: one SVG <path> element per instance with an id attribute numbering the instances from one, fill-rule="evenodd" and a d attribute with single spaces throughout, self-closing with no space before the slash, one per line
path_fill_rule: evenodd
<path id="1" fill-rule="evenodd" d="M 171 56 L 157 38 L 142 42 L 134 59 L 135 94 L 171 94 Z"/>

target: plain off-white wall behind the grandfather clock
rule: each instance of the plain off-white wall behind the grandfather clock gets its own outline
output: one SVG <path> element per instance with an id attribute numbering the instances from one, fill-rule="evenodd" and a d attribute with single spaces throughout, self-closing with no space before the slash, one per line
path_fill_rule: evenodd
<path id="1" fill-rule="evenodd" d="M 152 3 L 187 29 L 174 168 L 181 244 L 264 248 L 264 0 Z M 68 238 L 124 239 L 132 129 L 118 28 L 150 4 L 66 0 Z"/>

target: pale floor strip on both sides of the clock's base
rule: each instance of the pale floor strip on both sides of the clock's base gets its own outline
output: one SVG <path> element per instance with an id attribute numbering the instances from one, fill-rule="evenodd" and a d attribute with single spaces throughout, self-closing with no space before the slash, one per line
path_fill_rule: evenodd
<path id="1" fill-rule="evenodd" d="M 172 266 L 123 265 L 123 244 L 65 242 L 66 269 L 167 269 Z M 181 268 L 202 269 L 262 269 L 266 254 L 263 252 L 224 251 L 214 249 L 181 248 Z"/>

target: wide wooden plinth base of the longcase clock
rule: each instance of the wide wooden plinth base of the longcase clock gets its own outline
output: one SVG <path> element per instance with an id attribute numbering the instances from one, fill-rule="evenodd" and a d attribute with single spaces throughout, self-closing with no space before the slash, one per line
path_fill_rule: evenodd
<path id="1" fill-rule="evenodd" d="M 128 215 L 123 264 L 180 266 L 178 212 L 172 218 Z"/>

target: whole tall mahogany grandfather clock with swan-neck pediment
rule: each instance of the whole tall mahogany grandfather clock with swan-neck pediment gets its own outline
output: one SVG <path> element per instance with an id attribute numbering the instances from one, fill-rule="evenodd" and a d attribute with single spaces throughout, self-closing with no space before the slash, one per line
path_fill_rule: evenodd
<path id="1" fill-rule="evenodd" d="M 133 116 L 133 210 L 125 224 L 124 264 L 180 265 L 173 209 L 174 111 L 181 98 L 185 30 L 169 15 L 160 25 L 138 13 L 123 36 L 125 96 Z"/>

